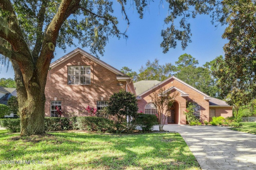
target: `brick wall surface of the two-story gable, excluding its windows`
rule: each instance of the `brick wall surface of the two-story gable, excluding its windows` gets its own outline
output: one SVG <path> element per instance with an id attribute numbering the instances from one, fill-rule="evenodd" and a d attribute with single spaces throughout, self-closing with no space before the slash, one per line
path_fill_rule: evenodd
<path id="1" fill-rule="evenodd" d="M 68 85 L 67 69 L 68 65 L 91 65 L 91 85 Z M 123 83 L 123 86 L 118 86 Z M 120 89 L 126 89 L 126 82 L 116 80 L 116 74 L 91 59 L 77 54 L 69 60 L 63 62 L 48 72 L 45 87 L 45 116 L 50 116 L 50 101 L 57 97 L 62 101 L 62 111 L 75 112 L 83 110 L 88 105 L 96 107 L 96 101 L 104 100 Z M 80 116 L 86 116 L 88 113 L 80 113 Z"/>

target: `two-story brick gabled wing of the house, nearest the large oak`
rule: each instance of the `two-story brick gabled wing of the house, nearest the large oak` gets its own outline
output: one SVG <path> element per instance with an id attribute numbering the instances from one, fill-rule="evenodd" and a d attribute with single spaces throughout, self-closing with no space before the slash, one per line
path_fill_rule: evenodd
<path id="1" fill-rule="evenodd" d="M 111 95 L 121 89 L 135 93 L 132 79 L 84 50 L 77 48 L 50 65 L 45 87 L 45 116 L 65 113 L 87 116 L 87 106 L 98 110 L 108 106 Z"/>

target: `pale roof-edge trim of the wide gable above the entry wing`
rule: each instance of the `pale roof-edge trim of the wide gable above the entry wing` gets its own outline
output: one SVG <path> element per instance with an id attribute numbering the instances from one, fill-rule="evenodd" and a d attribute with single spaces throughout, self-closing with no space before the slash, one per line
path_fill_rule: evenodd
<path id="1" fill-rule="evenodd" d="M 169 81 L 170 79 L 172 79 L 172 78 L 173 78 L 174 80 L 176 80 L 176 81 L 178 81 L 178 82 L 182 83 L 183 85 L 185 85 L 185 86 L 187 86 L 187 87 L 189 87 L 189 88 L 193 89 L 194 91 L 196 91 L 196 92 L 200 93 L 201 95 L 203 95 L 205 100 L 212 99 L 212 97 L 211 97 L 211 96 L 209 96 L 209 95 L 207 95 L 207 94 L 205 94 L 205 93 L 201 92 L 200 90 L 198 90 L 198 89 L 196 89 L 196 88 L 192 87 L 191 85 L 189 85 L 189 84 L 187 84 L 187 83 L 183 82 L 182 80 L 180 80 L 179 78 L 176 78 L 176 77 L 174 77 L 174 76 L 171 76 L 171 77 L 167 78 L 166 80 L 164 80 L 164 81 L 162 81 L 162 82 L 158 83 L 157 85 L 155 85 L 155 86 L 153 86 L 153 87 L 149 88 L 149 89 L 148 89 L 148 90 L 146 90 L 145 92 L 141 93 L 139 96 L 142 96 L 142 95 L 146 94 L 147 92 L 149 92 L 149 91 L 153 90 L 154 88 L 158 87 L 159 85 L 162 85 L 162 84 L 164 84 L 165 82 L 168 82 L 168 81 Z"/>

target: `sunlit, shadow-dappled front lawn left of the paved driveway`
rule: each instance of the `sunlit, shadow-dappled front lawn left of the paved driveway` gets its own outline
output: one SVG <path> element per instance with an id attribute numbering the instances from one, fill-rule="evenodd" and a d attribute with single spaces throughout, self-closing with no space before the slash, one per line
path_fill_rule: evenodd
<path id="1" fill-rule="evenodd" d="M 178 133 L 106 135 L 55 132 L 19 137 L 0 130 L 0 169 L 201 169 Z M 35 164 L 32 164 L 32 161 Z M 43 161 L 44 164 L 38 164 Z"/>

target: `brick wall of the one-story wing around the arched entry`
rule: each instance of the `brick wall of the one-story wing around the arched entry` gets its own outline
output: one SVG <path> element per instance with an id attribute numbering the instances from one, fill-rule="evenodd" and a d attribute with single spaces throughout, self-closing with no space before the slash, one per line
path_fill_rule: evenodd
<path id="1" fill-rule="evenodd" d="M 172 86 L 175 86 L 176 88 L 179 88 L 183 92 L 186 92 L 187 94 L 189 94 L 188 97 L 181 97 L 180 93 L 175 90 L 176 93 L 178 93 L 178 96 L 176 97 L 175 100 L 176 102 L 179 103 L 179 108 L 175 108 L 175 120 L 174 120 L 175 123 L 186 124 L 186 116 L 183 114 L 183 111 L 186 109 L 186 101 L 194 101 L 200 105 L 201 122 L 203 122 L 203 120 L 209 120 L 209 101 L 204 100 L 203 95 L 187 87 L 186 85 L 183 85 L 182 83 L 176 81 L 175 79 L 170 79 L 168 82 L 165 82 L 160 87 L 164 87 L 165 89 L 168 89 Z M 151 97 L 149 96 L 151 93 L 152 91 L 144 94 L 143 96 L 141 96 L 142 99 L 138 100 L 139 112 L 140 111 L 144 112 L 145 105 L 148 102 L 151 102 Z M 216 115 L 218 114 L 223 116 L 230 115 L 230 114 L 232 115 L 232 107 L 216 108 Z"/>

